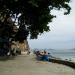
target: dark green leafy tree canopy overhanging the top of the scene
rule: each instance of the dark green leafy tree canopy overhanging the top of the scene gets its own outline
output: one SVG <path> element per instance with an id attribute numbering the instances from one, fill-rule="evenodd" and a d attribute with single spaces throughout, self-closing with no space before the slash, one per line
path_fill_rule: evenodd
<path id="1" fill-rule="evenodd" d="M 65 15 L 70 13 L 69 2 L 70 0 L 0 0 L 0 24 L 5 23 L 6 26 L 8 17 L 14 18 L 15 21 L 18 20 L 19 25 L 17 37 L 21 39 L 22 33 L 25 32 L 25 39 L 28 34 L 34 39 L 44 31 L 50 30 L 48 23 L 55 17 L 51 15 L 51 10 L 63 8 Z M 25 31 L 22 31 L 21 26 L 25 26 Z"/>

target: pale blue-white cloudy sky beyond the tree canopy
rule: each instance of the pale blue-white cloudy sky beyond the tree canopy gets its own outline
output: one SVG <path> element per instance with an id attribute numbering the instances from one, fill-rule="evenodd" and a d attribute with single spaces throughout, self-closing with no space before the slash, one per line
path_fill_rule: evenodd
<path id="1" fill-rule="evenodd" d="M 51 31 L 40 35 L 38 39 L 28 39 L 31 49 L 75 48 L 75 0 L 71 0 L 70 6 L 72 10 L 69 15 L 63 15 L 63 10 L 52 11 L 52 14 L 57 17 L 53 19 L 53 22 L 48 24 Z"/>

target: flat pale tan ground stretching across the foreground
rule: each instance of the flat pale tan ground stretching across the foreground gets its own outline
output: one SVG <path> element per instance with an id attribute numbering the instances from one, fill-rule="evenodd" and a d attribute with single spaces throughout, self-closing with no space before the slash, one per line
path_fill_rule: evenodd
<path id="1" fill-rule="evenodd" d="M 0 75 L 75 75 L 75 70 L 60 64 L 36 61 L 35 56 L 17 56 L 0 61 Z"/>

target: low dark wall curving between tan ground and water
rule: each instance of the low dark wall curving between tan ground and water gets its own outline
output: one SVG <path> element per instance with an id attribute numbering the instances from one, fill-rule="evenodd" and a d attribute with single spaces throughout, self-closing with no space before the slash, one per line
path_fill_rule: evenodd
<path id="1" fill-rule="evenodd" d="M 71 62 L 71 61 L 60 60 L 60 59 L 49 59 L 49 61 L 53 62 L 53 63 L 59 63 L 59 64 L 67 65 L 67 66 L 70 66 L 70 67 L 75 69 L 75 63 Z"/>

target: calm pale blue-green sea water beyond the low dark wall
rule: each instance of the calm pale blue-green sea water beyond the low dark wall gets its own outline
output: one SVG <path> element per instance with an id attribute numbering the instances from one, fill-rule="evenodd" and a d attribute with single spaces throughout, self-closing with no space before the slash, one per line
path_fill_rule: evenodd
<path id="1" fill-rule="evenodd" d="M 75 50 L 47 50 L 52 56 L 75 62 Z"/>

